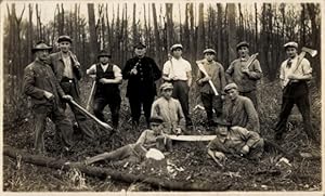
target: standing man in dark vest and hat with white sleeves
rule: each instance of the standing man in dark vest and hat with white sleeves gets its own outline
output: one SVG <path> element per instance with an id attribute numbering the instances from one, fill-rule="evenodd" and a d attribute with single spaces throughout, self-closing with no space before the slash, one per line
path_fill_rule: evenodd
<path id="1" fill-rule="evenodd" d="M 96 76 L 96 90 L 94 93 L 93 112 L 102 121 L 106 121 L 103 110 L 108 104 L 112 114 L 113 128 L 118 128 L 120 92 L 118 86 L 122 82 L 121 70 L 117 65 L 110 63 L 112 55 L 102 50 L 98 56 L 100 63 L 87 69 L 88 75 Z"/>

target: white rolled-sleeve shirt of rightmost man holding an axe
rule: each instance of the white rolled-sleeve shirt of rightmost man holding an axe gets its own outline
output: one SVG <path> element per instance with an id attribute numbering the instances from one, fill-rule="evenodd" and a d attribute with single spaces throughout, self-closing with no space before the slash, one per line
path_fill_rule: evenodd
<path id="1" fill-rule="evenodd" d="M 298 55 L 291 60 L 291 66 L 288 67 L 289 60 L 284 61 L 281 64 L 281 71 L 280 71 L 280 79 L 285 80 L 285 83 L 288 81 L 288 75 L 295 74 L 297 76 L 304 76 L 312 74 L 312 67 L 310 66 L 310 63 L 307 58 L 302 58 L 300 65 L 298 65 L 297 68 L 297 61 L 298 61 Z"/>

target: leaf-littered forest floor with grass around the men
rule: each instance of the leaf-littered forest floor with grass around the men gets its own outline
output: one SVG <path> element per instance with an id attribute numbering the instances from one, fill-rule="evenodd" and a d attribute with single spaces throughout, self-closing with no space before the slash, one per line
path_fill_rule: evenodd
<path id="1" fill-rule="evenodd" d="M 46 132 L 47 156 L 80 161 L 84 160 L 86 157 L 135 142 L 141 131 L 134 131 L 131 128 L 129 106 L 127 99 L 125 99 L 125 86 L 126 83 L 121 86 L 123 101 L 118 132 L 109 138 L 106 132 L 96 130 L 94 142 L 87 142 L 76 134 L 75 153 L 67 155 L 58 151 L 60 142 L 55 136 L 53 123 L 49 121 Z M 82 97 L 86 100 L 91 88 L 91 81 L 83 81 L 81 87 Z M 272 128 L 276 122 L 281 106 L 280 87 L 277 82 L 265 82 L 261 83 L 259 89 L 261 135 L 272 141 L 274 133 Z M 194 108 L 198 103 L 199 99 L 196 94 L 194 89 L 191 95 L 191 108 Z M 313 127 L 321 136 L 321 95 L 315 88 L 311 90 L 311 104 Z M 26 108 L 21 107 L 20 109 L 25 115 L 20 115 L 17 119 L 13 115 L 18 112 L 10 110 L 9 106 L 4 107 L 3 141 L 5 145 L 31 152 L 34 143 L 31 117 Z M 109 109 L 106 108 L 105 110 L 107 117 L 110 118 Z M 205 127 L 204 110 L 192 110 L 192 118 L 194 121 L 193 134 L 211 133 Z M 142 118 L 141 130 L 144 130 L 144 118 Z M 94 166 L 165 180 L 210 182 L 213 184 L 222 182 L 222 184 L 226 184 L 229 191 L 321 191 L 321 148 L 308 140 L 302 130 L 302 120 L 297 108 L 295 108 L 288 125 L 289 131 L 280 145 L 289 154 L 308 153 L 312 155 L 311 158 L 295 157 L 289 165 L 283 162 L 278 165 L 281 155 L 276 152 L 269 152 L 264 154 L 259 164 L 242 157 L 229 157 L 225 168 L 221 169 L 207 156 L 207 142 L 178 142 L 173 144 L 173 152 L 166 155 L 166 159 L 172 162 L 178 170 L 167 169 L 167 164 L 155 167 L 154 165 L 146 165 L 146 162 L 116 166 L 108 161 L 100 161 Z M 78 181 L 76 181 L 76 177 L 79 179 Z M 121 190 L 166 191 L 145 183 L 129 184 L 109 179 L 103 180 L 84 175 L 76 169 L 55 170 L 22 162 L 6 156 L 3 157 L 4 192 L 118 192 Z"/>

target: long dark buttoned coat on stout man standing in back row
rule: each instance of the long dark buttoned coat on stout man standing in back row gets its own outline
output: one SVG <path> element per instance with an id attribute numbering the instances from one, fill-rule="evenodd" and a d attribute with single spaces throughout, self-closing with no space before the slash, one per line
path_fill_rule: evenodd
<path id="1" fill-rule="evenodd" d="M 138 74 L 130 75 L 133 67 Z M 128 81 L 127 97 L 153 97 L 157 94 L 155 81 L 161 77 L 161 70 L 156 62 L 147 56 L 130 58 L 123 70 L 123 79 Z"/>

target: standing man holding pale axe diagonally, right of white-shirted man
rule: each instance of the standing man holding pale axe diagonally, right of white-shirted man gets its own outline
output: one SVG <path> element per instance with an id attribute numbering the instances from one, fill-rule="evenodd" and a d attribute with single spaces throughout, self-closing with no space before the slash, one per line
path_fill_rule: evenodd
<path id="1" fill-rule="evenodd" d="M 213 49 L 207 49 L 204 51 L 205 58 L 199 63 L 203 64 L 208 76 L 205 76 L 204 73 L 198 69 L 196 81 L 199 86 L 200 100 L 206 109 L 209 126 L 214 125 L 212 109 L 214 109 L 217 118 L 220 118 L 222 115 L 221 93 L 225 86 L 224 69 L 220 63 L 213 60 L 216 54 L 217 53 Z M 209 80 L 211 80 L 218 95 L 214 94 Z"/>

